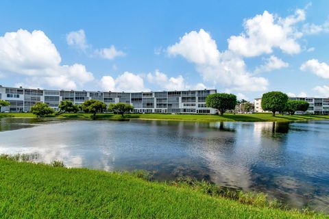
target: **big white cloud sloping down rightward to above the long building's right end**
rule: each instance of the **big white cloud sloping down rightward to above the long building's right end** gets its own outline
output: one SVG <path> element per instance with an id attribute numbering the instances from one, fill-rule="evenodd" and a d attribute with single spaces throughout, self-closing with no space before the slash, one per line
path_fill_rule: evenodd
<path id="1" fill-rule="evenodd" d="M 231 51 L 220 53 L 215 40 L 203 29 L 185 34 L 180 38 L 180 42 L 168 47 L 167 51 L 171 55 L 182 55 L 188 62 L 193 62 L 204 81 L 214 85 L 221 84 L 232 90 L 267 89 L 267 79 L 247 73 L 245 62 Z"/>

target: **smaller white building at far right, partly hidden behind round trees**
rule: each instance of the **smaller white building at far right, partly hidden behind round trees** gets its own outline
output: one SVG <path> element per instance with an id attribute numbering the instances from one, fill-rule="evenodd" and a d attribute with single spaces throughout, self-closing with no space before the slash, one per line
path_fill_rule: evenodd
<path id="1" fill-rule="evenodd" d="M 295 112 L 296 114 L 329 114 L 329 98 L 289 97 L 289 100 L 306 101 L 310 103 L 306 112 Z M 262 109 L 261 103 L 261 98 L 254 100 L 254 112 L 266 112 Z"/>

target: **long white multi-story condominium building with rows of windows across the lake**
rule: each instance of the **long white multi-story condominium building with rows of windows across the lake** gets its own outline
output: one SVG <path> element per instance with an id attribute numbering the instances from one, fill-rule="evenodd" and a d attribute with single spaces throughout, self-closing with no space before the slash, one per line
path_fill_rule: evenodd
<path id="1" fill-rule="evenodd" d="M 81 105 L 95 99 L 110 103 L 129 103 L 135 113 L 182 113 L 215 114 L 216 110 L 206 107 L 206 96 L 217 90 L 175 90 L 162 92 L 91 92 L 75 90 L 40 90 L 27 88 L 7 88 L 0 86 L 0 99 L 10 102 L 1 112 L 28 112 L 38 103 L 47 103 L 58 110 L 60 101 L 72 101 Z"/>

